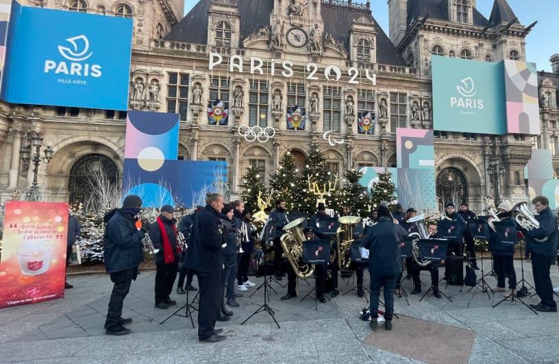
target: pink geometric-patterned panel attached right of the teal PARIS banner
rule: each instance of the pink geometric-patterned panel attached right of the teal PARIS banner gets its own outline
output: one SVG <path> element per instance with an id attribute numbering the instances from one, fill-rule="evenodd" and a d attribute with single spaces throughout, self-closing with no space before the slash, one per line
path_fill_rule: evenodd
<path id="1" fill-rule="evenodd" d="M 540 134 L 538 73 L 535 63 L 505 60 L 507 132 Z"/>

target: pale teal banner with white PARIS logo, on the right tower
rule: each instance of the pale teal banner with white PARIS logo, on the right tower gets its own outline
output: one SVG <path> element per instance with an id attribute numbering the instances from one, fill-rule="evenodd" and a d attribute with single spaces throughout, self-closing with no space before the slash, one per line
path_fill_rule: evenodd
<path id="1" fill-rule="evenodd" d="M 434 130 L 505 134 L 504 66 L 431 57 Z"/>

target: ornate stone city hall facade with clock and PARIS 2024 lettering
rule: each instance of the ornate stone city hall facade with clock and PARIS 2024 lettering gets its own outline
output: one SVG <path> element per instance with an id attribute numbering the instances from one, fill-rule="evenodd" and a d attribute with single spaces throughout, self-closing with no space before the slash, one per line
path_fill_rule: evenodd
<path id="1" fill-rule="evenodd" d="M 390 0 L 389 36 L 369 1 L 200 0 L 184 18 L 182 0 L 88 1 L 28 5 L 132 16 L 129 108 L 179 113 L 179 158 L 226 160 L 232 195 L 248 165 L 267 179 L 288 149 L 301 164 L 319 145 L 330 170 L 342 175 L 358 167 L 394 167 L 395 129 L 432 128 L 431 54 L 523 60 L 530 32 L 506 0 L 495 0 L 489 19 L 477 12 L 475 0 Z M 543 144 L 557 143 L 559 136 L 557 71 L 541 75 L 542 117 L 551 123 L 543 123 Z M 219 101 L 229 112 L 227 125 L 210 123 L 208 105 Z M 295 106 L 306 110 L 303 130 L 289 128 L 288 110 Z M 367 111 L 374 112 L 375 127 L 361 134 L 358 116 Z M 0 191 L 31 183 L 19 150 L 32 128 L 54 150 L 51 162 L 40 165 L 43 191 L 71 202 L 83 199 L 90 168 L 103 168 L 115 179 L 122 171 L 124 120 L 125 112 L 113 110 L 3 104 Z M 273 128 L 275 135 L 249 142 L 240 125 L 256 132 L 255 126 Z M 484 197 L 498 183 L 489 173 L 495 163 L 503 173 L 501 195 L 526 199 L 523 169 L 532 138 L 435 134 L 441 199 L 484 208 Z"/>

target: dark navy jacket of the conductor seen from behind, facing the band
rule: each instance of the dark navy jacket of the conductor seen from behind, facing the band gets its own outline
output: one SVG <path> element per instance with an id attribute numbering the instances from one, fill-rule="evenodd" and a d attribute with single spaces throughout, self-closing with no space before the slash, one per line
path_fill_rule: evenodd
<path id="1" fill-rule="evenodd" d="M 380 217 L 371 226 L 363 241 L 369 249 L 369 273 L 371 275 L 397 276 L 401 273 L 400 243 L 407 232 L 395 225 L 390 217 Z"/>

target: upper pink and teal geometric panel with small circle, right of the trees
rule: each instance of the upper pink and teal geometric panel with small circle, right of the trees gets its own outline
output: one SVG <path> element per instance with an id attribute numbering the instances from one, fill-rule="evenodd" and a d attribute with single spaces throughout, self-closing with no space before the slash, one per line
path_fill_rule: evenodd
<path id="1" fill-rule="evenodd" d="M 397 128 L 397 167 L 433 169 L 435 166 L 433 141 L 433 130 Z"/>

